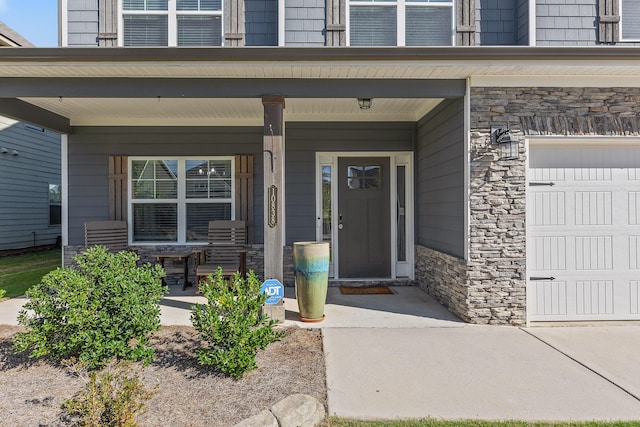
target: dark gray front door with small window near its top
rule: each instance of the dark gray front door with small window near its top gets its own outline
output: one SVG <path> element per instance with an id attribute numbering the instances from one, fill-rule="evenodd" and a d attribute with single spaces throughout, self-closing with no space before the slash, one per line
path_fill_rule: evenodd
<path id="1" fill-rule="evenodd" d="M 389 158 L 339 158 L 339 277 L 391 277 L 390 215 Z"/>

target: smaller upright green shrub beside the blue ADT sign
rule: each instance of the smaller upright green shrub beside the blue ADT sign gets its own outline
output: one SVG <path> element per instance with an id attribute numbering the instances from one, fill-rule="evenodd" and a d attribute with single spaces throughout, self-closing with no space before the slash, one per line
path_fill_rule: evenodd
<path id="1" fill-rule="evenodd" d="M 253 271 L 247 279 L 236 274 L 227 283 L 220 268 L 200 286 L 208 303 L 192 307 L 191 322 L 209 344 L 197 350 L 201 364 L 240 378 L 257 367 L 258 350 L 284 336 L 283 331 L 274 330 L 276 321 L 260 314 L 266 299 L 260 287 Z"/>

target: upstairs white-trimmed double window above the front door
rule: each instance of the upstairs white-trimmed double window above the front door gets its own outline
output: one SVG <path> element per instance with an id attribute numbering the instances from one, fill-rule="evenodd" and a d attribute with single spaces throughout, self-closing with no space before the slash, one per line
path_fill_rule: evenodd
<path id="1" fill-rule="evenodd" d="M 349 0 L 351 46 L 451 46 L 453 0 Z"/>

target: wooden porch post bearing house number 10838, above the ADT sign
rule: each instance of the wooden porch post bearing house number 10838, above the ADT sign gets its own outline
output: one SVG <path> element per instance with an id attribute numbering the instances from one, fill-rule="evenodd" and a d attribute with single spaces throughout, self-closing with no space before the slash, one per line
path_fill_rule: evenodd
<path id="1" fill-rule="evenodd" d="M 264 278 L 283 282 L 284 97 L 262 97 L 264 106 Z"/>

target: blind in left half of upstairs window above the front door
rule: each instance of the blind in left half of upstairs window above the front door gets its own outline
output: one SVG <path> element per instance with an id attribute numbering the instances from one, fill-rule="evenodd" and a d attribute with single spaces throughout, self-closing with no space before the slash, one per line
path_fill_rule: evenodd
<path id="1" fill-rule="evenodd" d="M 352 6 L 350 13 L 351 46 L 396 46 L 395 6 Z"/>

